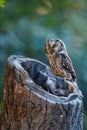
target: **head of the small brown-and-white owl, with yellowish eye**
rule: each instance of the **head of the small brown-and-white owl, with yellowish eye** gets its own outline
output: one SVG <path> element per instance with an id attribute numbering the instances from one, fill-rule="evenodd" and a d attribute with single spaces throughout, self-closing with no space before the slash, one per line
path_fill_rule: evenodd
<path id="1" fill-rule="evenodd" d="M 66 47 L 63 41 L 61 41 L 60 39 L 47 40 L 45 44 L 45 50 L 46 54 L 52 55 L 54 53 L 65 51 Z"/>

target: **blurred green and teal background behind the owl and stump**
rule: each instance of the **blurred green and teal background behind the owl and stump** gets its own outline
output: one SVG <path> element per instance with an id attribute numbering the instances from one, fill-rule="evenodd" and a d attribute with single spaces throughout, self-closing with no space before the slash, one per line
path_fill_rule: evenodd
<path id="1" fill-rule="evenodd" d="M 87 0 L 5 1 L 0 7 L 0 102 L 7 57 L 24 55 L 49 64 L 44 50 L 49 38 L 67 46 L 84 95 L 87 130 Z"/>

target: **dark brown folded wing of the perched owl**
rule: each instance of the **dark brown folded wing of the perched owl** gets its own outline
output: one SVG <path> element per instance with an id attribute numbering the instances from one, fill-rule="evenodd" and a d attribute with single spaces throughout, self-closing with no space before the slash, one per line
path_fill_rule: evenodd
<path id="1" fill-rule="evenodd" d="M 63 68 L 68 70 L 69 73 L 71 73 L 73 80 L 76 80 L 76 73 L 72 65 L 72 61 L 66 54 L 62 53 L 60 55 L 61 58 L 61 65 Z"/>

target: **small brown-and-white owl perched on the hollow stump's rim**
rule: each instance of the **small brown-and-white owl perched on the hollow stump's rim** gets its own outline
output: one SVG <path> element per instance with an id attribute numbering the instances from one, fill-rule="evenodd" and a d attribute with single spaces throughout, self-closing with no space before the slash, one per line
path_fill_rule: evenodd
<path id="1" fill-rule="evenodd" d="M 60 39 L 47 40 L 45 51 L 53 74 L 64 78 L 72 89 L 72 82 L 76 82 L 76 73 L 63 41 Z"/>

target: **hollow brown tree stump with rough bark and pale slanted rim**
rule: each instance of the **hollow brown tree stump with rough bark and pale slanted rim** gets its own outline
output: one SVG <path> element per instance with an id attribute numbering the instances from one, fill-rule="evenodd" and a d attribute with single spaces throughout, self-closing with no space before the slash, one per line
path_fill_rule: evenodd
<path id="1" fill-rule="evenodd" d="M 49 89 L 54 84 L 57 95 Z M 7 60 L 0 119 L 1 130 L 82 130 L 82 94 L 78 88 L 70 93 L 64 79 L 42 62 L 13 55 Z"/>

